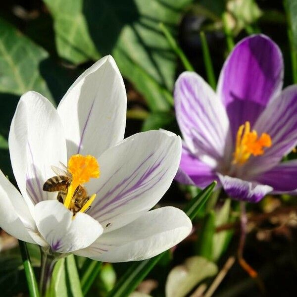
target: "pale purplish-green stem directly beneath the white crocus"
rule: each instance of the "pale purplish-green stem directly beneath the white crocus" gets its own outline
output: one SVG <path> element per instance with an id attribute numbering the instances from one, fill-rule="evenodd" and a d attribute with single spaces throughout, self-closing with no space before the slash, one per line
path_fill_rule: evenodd
<path id="1" fill-rule="evenodd" d="M 54 265 L 58 261 L 58 258 L 49 252 L 49 248 L 41 247 L 41 274 L 39 282 L 40 296 L 46 296 L 46 292 L 49 288 L 52 271 Z"/>

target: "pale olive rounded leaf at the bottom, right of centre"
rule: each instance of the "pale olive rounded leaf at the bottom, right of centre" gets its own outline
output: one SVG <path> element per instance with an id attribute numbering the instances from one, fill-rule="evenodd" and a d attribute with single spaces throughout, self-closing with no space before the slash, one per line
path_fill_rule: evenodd
<path id="1" fill-rule="evenodd" d="M 217 266 L 209 260 L 199 256 L 190 257 L 168 274 L 166 297 L 184 297 L 202 280 L 216 275 L 217 272 Z"/>

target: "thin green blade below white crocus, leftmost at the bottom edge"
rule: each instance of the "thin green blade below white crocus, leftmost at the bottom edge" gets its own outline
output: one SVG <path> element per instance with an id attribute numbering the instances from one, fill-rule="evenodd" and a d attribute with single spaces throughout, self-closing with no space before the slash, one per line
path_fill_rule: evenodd
<path id="1" fill-rule="evenodd" d="M 39 297 L 38 286 L 30 261 L 30 255 L 25 242 L 19 240 L 20 252 L 23 260 L 24 271 L 27 279 L 30 297 Z"/>

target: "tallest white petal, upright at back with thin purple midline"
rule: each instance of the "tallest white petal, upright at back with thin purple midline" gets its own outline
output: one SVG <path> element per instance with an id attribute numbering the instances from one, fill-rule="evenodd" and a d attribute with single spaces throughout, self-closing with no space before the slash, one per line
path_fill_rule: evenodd
<path id="1" fill-rule="evenodd" d="M 68 157 L 96 156 L 123 140 L 127 97 L 111 56 L 87 69 L 70 87 L 57 110 L 67 140 Z"/>

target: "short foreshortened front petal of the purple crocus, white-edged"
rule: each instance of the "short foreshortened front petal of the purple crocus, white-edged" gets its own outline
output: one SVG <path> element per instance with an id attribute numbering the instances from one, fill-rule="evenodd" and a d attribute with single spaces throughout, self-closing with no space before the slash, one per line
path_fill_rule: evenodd
<path id="1" fill-rule="evenodd" d="M 228 175 L 218 174 L 218 176 L 226 193 L 234 199 L 258 202 L 273 190 L 273 188 L 268 185 L 248 182 Z"/>

